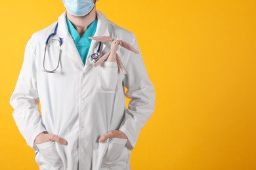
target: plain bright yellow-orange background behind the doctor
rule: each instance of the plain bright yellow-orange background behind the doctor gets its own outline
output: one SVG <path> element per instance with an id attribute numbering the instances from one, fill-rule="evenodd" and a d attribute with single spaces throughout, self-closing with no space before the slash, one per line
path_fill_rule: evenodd
<path id="1" fill-rule="evenodd" d="M 256 1 L 100 0 L 96 9 L 135 33 L 156 88 L 132 169 L 256 169 Z M 0 169 L 39 169 L 9 99 L 26 42 L 64 10 L 61 0 L 0 0 Z"/>

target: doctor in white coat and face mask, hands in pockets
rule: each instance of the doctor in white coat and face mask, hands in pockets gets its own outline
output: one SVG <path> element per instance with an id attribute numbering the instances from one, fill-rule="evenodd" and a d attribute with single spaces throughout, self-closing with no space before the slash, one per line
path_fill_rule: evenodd
<path id="1" fill-rule="evenodd" d="M 116 61 L 93 67 L 99 43 L 88 37 L 121 39 L 139 50 L 135 35 L 96 10 L 96 1 L 64 0 L 58 21 L 26 44 L 10 104 L 41 170 L 131 169 L 131 150 L 154 112 L 154 86 L 141 54 L 119 47 L 127 75 Z M 100 56 L 109 51 L 110 42 L 102 43 Z M 131 98 L 128 109 L 125 96 Z"/>

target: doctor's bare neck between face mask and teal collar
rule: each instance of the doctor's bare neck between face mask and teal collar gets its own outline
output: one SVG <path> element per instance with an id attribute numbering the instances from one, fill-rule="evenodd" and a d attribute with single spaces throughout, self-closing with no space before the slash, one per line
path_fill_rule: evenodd
<path id="1" fill-rule="evenodd" d="M 67 17 L 74 25 L 77 33 L 82 37 L 89 25 L 91 25 L 91 23 L 96 19 L 96 9 L 93 8 L 93 10 L 85 16 L 74 16 L 67 11 Z"/>

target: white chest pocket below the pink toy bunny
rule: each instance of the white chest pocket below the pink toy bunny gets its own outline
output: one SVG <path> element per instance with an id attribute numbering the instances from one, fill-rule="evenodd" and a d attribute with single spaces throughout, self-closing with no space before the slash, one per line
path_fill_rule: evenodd
<path id="1" fill-rule="evenodd" d="M 117 91 L 117 72 L 116 61 L 103 61 L 98 65 L 98 92 Z"/>

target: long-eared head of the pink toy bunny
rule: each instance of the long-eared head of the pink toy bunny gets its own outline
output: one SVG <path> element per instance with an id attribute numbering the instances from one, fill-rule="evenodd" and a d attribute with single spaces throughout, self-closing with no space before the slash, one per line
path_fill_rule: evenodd
<path id="1" fill-rule="evenodd" d="M 136 54 L 139 54 L 139 51 L 136 50 L 135 48 L 133 48 L 133 46 L 131 46 L 131 44 L 129 44 L 128 42 L 122 41 L 122 40 L 116 40 L 116 39 L 112 39 L 111 37 L 106 37 L 106 36 L 100 36 L 100 37 L 89 37 L 89 39 L 93 39 L 96 41 L 101 41 L 101 42 L 111 42 L 111 50 L 116 52 L 118 49 L 118 45 L 123 46 L 124 48 L 126 48 L 127 50 L 130 50 Z"/>

